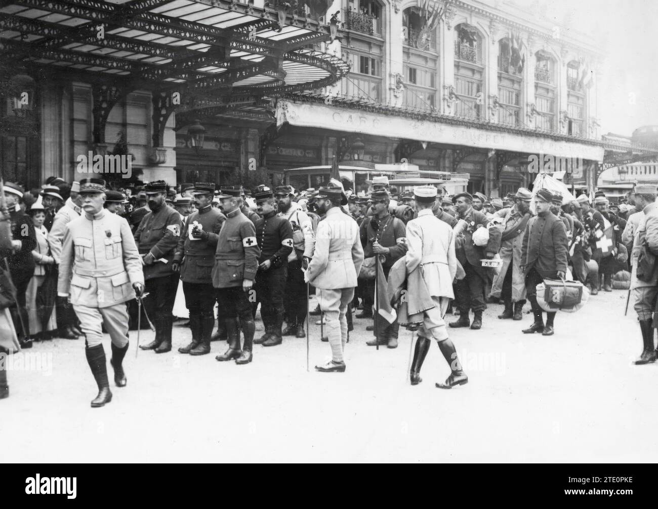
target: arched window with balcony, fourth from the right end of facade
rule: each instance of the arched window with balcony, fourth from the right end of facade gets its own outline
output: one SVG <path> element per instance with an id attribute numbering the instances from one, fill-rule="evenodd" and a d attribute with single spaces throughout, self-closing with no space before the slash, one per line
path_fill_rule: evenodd
<path id="1" fill-rule="evenodd" d="M 455 116 L 482 119 L 484 103 L 484 66 L 482 36 L 473 26 L 455 26 Z"/>

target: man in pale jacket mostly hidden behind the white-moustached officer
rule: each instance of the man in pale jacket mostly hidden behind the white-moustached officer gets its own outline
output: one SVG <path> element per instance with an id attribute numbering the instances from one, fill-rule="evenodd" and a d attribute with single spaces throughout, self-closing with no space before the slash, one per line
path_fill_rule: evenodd
<path id="1" fill-rule="evenodd" d="M 80 182 L 73 182 L 71 185 L 70 196 L 64 206 L 57 211 L 53 226 L 48 233 L 48 243 L 50 252 L 55 263 L 59 263 L 59 257 L 62 253 L 62 242 L 64 240 L 64 231 L 66 225 L 73 219 L 80 217 L 82 212 L 82 195 L 80 194 Z M 78 317 L 76 317 L 73 306 L 66 299 L 57 297 L 57 336 L 64 339 L 78 339 L 82 336 L 80 331 Z"/>

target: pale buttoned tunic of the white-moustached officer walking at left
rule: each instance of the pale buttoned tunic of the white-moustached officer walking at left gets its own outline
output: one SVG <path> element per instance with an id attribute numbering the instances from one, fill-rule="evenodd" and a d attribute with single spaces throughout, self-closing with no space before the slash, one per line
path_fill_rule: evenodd
<path id="1" fill-rule="evenodd" d="M 84 213 L 64 230 L 57 294 L 71 304 L 109 308 L 135 297 L 143 284 L 141 260 L 128 221 L 107 209 Z"/>

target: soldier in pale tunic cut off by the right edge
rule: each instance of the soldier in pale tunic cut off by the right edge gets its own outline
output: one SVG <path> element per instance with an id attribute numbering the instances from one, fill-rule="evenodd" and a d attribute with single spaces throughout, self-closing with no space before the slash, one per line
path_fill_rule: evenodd
<path id="1" fill-rule="evenodd" d="M 649 274 L 638 277 L 638 259 L 642 250 L 649 254 L 658 253 L 658 206 L 656 204 L 656 186 L 650 184 L 638 184 L 635 186 L 635 206 L 640 212 L 640 223 L 635 232 L 633 250 L 631 252 L 632 278 L 631 292 L 635 300 L 635 311 L 640 321 L 642 331 L 642 354 L 636 360 L 636 365 L 655 362 L 658 350 L 654 350 L 653 338 L 655 333 L 655 308 L 656 296 L 658 295 L 658 269 L 653 267 Z M 633 216 L 631 216 L 633 217 Z M 653 316 L 653 322 L 651 320 Z"/>

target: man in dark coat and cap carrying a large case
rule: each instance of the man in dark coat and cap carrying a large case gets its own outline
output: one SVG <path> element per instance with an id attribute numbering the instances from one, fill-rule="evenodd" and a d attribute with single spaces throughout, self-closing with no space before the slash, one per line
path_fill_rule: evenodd
<path id="1" fill-rule="evenodd" d="M 540 189 L 535 196 L 537 208 L 536 217 L 532 217 L 526 226 L 521 248 L 522 270 L 526 277 L 526 293 L 534 323 L 524 334 L 542 333 L 553 335 L 553 320 L 555 311 L 546 313 L 546 325 L 542 308 L 537 302 L 536 286 L 544 279 L 565 279 L 567 275 L 567 228 L 559 217 L 551 212 L 553 194 L 546 189 Z"/>

